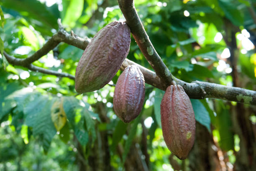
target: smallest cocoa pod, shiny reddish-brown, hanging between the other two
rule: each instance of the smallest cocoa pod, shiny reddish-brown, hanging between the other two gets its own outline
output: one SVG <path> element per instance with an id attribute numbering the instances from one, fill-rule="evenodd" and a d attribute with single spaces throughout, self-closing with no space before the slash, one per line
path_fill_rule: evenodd
<path id="1" fill-rule="evenodd" d="M 125 123 L 131 122 L 141 112 L 145 98 L 145 80 L 136 65 L 128 65 L 115 85 L 113 108 Z"/>

